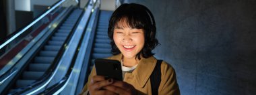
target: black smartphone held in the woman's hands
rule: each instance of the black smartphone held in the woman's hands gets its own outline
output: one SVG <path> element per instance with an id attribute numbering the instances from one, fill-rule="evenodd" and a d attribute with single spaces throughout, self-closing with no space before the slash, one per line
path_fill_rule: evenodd
<path id="1" fill-rule="evenodd" d="M 97 75 L 123 80 L 121 63 L 118 60 L 96 59 L 94 62 Z"/>

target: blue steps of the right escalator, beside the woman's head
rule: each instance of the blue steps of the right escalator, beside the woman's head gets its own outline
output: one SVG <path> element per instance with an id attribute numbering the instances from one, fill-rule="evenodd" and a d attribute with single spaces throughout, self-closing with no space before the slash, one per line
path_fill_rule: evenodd
<path id="1" fill-rule="evenodd" d="M 112 13 L 113 11 L 100 11 L 98 23 L 96 26 L 97 29 L 95 31 L 92 54 L 90 56 L 90 69 L 92 69 L 94 60 L 96 58 L 108 58 L 113 56 L 111 54 L 110 39 L 108 38 L 108 20 L 110 19 Z"/>

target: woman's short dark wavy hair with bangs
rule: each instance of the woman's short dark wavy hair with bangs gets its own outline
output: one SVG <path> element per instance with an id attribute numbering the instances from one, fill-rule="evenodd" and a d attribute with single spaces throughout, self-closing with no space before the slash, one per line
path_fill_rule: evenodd
<path id="1" fill-rule="evenodd" d="M 121 53 L 113 39 L 113 32 L 119 21 L 125 21 L 131 28 L 143 29 L 145 44 L 136 58 L 140 60 L 140 54 L 142 54 L 143 58 L 153 56 L 152 50 L 154 50 L 159 43 L 158 39 L 156 39 L 156 23 L 150 10 L 144 5 L 125 3 L 113 12 L 108 24 L 108 37 L 110 38 L 110 44 L 112 46 L 111 52 L 113 55 Z"/>

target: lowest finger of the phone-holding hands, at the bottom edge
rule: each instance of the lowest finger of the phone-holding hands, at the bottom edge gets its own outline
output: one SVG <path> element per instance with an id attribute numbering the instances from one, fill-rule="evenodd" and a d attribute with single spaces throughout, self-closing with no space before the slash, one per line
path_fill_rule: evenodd
<path id="1" fill-rule="evenodd" d="M 104 89 L 105 90 L 109 90 L 111 92 L 115 92 L 117 94 L 125 94 L 127 93 L 126 90 L 122 89 L 122 88 L 119 88 L 117 86 L 113 86 L 113 85 L 109 85 L 109 86 L 104 86 Z"/>

